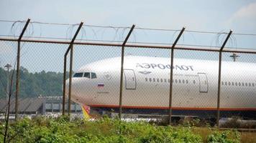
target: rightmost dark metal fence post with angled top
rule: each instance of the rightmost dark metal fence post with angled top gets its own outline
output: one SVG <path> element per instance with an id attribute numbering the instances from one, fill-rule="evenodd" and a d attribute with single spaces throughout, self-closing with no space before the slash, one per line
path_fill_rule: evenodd
<path id="1" fill-rule="evenodd" d="M 227 35 L 227 38 L 225 39 L 224 43 L 221 46 L 221 49 L 219 49 L 219 79 L 218 79 L 218 102 L 217 102 L 217 119 L 216 124 L 217 127 L 219 127 L 219 104 L 220 104 L 220 94 L 221 94 L 221 58 L 222 58 L 222 51 L 224 49 L 224 46 L 227 44 L 227 40 L 229 39 L 230 35 L 232 34 L 232 30 L 229 31 L 229 34 Z"/>

